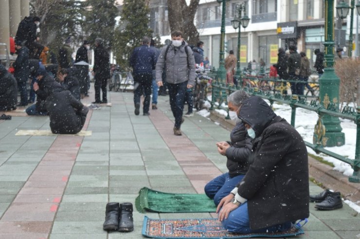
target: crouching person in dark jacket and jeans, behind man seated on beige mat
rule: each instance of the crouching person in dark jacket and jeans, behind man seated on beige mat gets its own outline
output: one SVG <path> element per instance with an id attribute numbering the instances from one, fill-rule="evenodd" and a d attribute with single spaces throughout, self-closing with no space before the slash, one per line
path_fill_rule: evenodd
<path id="1" fill-rule="evenodd" d="M 34 74 L 37 82 L 34 83 L 34 91 L 37 95 L 36 104 L 26 108 L 28 115 L 48 115 L 45 108 L 46 98 L 54 91 L 63 91 L 64 88 L 52 78 L 45 69 L 39 68 Z"/>

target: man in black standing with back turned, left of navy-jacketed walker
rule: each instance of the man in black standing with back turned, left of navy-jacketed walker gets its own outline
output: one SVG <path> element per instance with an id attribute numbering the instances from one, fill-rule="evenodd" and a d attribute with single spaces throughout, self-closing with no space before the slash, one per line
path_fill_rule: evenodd
<path id="1" fill-rule="evenodd" d="M 108 103 L 107 84 L 110 77 L 109 54 L 103 46 L 103 39 L 95 39 L 94 68 L 95 77 L 95 101 L 93 104 Z M 103 92 L 103 100 L 100 100 L 100 89 Z"/>

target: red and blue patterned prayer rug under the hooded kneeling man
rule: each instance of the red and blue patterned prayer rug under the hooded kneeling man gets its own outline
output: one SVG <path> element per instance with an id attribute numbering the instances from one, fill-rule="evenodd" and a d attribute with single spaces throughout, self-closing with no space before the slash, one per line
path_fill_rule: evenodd
<path id="1" fill-rule="evenodd" d="M 233 239 L 233 238 L 284 238 L 304 234 L 298 223 L 284 232 L 237 234 L 228 232 L 215 218 L 212 219 L 150 219 L 144 217 L 143 235 L 166 239 Z"/>

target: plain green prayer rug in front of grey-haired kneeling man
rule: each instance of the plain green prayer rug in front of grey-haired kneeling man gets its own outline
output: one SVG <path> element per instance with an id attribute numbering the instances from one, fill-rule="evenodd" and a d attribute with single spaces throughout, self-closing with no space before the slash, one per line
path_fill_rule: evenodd
<path id="1" fill-rule="evenodd" d="M 164 193 L 143 187 L 135 200 L 136 209 L 144 213 L 216 212 L 216 205 L 205 194 Z"/>

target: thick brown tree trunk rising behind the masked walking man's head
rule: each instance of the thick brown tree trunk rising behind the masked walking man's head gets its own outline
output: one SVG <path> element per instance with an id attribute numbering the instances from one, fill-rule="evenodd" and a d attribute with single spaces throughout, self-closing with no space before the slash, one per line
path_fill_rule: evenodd
<path id="1" fill-rule="evenodd" d="M 198 29 L 194 24 L 198 3 L 199 0 L 191 0 L 188 6 L 185 0 L 167 1 L 170 31 L 180 30 L 189 45 L 196 45 L 199 41 Z"/>

